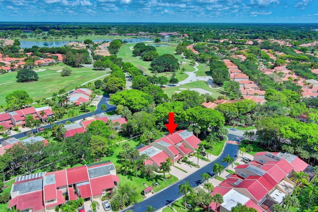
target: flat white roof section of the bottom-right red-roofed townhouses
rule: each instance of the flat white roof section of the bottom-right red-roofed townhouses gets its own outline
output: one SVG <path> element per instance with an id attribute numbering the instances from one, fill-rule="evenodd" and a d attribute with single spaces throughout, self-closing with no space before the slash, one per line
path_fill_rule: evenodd
<path id="1" fill-rule="evenodd" d="M 221 204 L 221 206 L 227 209 L 228 211 L 231 211 L 231 209 L 233 207 L 236 207 L 238 203 L 244 205 L 249 200 L 250 199 L 248 197 L 232 189 L 223 196 L 224 202 Z"/>

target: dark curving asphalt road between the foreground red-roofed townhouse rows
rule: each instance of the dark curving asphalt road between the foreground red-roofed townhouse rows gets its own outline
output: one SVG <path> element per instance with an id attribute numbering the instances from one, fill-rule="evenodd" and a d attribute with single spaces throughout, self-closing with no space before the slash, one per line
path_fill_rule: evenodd
<path id="1" fill-rule="evenodd" d="M 232 158 L 236 158 L 237 154 L 239 152 L 239 146 L 235 144 L 226 143 L 224 151 L 222 154 L 214 161 L 209 163 L 208 165 L 202 167 L 198 171 L 192 173 L 191 175 L 187 176 L 186 178 L 182 179 L 181 181 L 176 182 L 175 184 L 171 185 L 170 187 L 164 189 L 163 191 L 157 193 L 156 195 L 144 200 L 143 202 L 137 203 L 134 206 L 131 206 L 130 208 L 125 209 L 127 210 L 133 210 L 134 212 L 145 212 L 147 210 L 146 206 L 152 206 L 156 210 L 159 210 L 160 208 L 172 203 L 176 199 L 179 198 L 178 191 L 179 191 L 179 185 L 183 184 L 184 181 L 189 181 L 190 185 L 192 187 L 196 187 L 200 185 L 201 182 L 201 174 L 207 172 L 211 176 L 215 175 L 213 173 L 212 169 L 216 162 L 221 163 L 224 167 L 227 166 L 227 163 L 222 163 L 222 159 L 227 156 L 227 154 L 230 154 Z"/>

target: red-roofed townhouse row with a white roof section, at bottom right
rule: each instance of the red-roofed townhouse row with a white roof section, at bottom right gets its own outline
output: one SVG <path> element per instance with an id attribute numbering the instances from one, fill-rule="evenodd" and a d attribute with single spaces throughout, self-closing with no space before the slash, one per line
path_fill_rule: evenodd
<path id="1" fill-rule="evenodd" d="M 235 174 L 221 182 L 211 196 L 220 193 L 224 202 L 209 207 L 218 212 L 229 212 L 238 203 L 256 209 L 271 211 L 274 204 L 281 204 L 290 195 L 296 183 L 290 177 L 294 172 L 310 172 L 308 164 L 288 152 L 257 152 L 253 161 L 235 168 Z"/>

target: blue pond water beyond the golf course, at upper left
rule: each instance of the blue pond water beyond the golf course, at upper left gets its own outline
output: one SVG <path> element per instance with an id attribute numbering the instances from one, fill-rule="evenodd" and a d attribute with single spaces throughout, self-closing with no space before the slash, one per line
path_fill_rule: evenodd
<path id="1" fill-rule="evenodd" d="M 98 39 L 98 40 L 92 40 L 93 42 L 103 42 L 103 41 L 112 41 L 114 39 Z M 154 41 L 152 38 L 130 38 L 130 39 L 120 39 L 125 40 L 128 43 L 140 43 L 144 41 Z M 161 39 L 161 41 L 168 41 L 168 39 Z M 70 41 L 20 41 L 20 47 L 21 48 L 31 48 L 32 46 L 38 46 L 38 47 L 61 47 L 65 46 L 66 43 L 69 43 Z M 76 42 L 76 41 L 75 41 Z M 154 44 L 156 45 L 156 44 Z"/>

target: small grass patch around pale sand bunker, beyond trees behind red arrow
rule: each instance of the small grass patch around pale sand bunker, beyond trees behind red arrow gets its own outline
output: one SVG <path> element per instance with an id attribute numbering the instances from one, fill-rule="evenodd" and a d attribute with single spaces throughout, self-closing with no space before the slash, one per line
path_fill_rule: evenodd
<path id="1" fill-rule="evenodd" d="M 171 97 L 173 94 L 175 94 L 175 91 L 182 91 L 180 88 L 202 88 L 204 90 L 212 92 L 212 96 L 214 98 L 218 98 L 221 94 L 218 92 L 219 90 L 223 90 L 223 88 L 220 89 L 212 89 L 209 87 L 209 85 L 205 81 L 194 81 L 187 84 L 183 84 L 181 86 L 172 86 L 172 87 L 164 87 L 164 92 L 168 95 L 168 97 Z"/>

